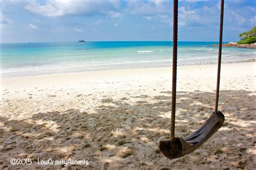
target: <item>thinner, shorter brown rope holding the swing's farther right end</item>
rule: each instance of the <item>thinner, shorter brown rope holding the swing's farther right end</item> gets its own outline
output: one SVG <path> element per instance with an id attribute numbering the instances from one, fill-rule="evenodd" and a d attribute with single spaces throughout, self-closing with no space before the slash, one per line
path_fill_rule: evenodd
<path id="1" fill-rule="evenodd" d="M 222 49 L 222 36 L 223 36 L 223 15 L 224 15 L 224 0 L 221 0 L 221 6 L 220 6 L 219 56 L 218 56 L 217 87 L 216 87 L 216 98 L 215 98 L 215 113 L 218 112 L 218 103 L 219 103 L 221 49 Z"/>

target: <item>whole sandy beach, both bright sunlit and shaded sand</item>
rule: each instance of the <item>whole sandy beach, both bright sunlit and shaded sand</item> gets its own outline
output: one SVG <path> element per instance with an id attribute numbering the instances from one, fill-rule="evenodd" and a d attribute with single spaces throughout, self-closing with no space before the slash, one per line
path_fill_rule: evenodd
<path id="1" fill-rule="evenodd" d="M 190 155 L 169 160 L 171 68 L 62 73 L 1 79 L 0 169 L 254 169 L 255 63 L 224 63 L 225 123 Z M 176 136 L 214 111 L 216 65 L 178 67 Z M 11 165 L 12 158 L 31 165 Z M 89 165 L 38 165 L 47 160 Z"/>

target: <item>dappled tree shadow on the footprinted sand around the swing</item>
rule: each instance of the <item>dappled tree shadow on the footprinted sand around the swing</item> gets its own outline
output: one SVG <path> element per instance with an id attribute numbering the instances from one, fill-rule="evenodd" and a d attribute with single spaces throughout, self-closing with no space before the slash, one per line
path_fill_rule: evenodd
<path id="1" fill-rule="evenodd" d="M 226 122 L 201 148 L 180 159 L 169 160 L 158 149 L 169 137 L 171 92 L 159 96 L 104 98 L 96 113 L 78 109 L 39 112 L 20 121 L 0 117 L 0 167 L 14 166 L 11 158 L 32 161 L 89 160 L 89 165 L 68 169 L 161 169 L 161 168 L 246 168 L 252 167 L 255 134 L 255 96 L 251 91 L 221 91 L 220 110 Z M 210 116 L 214 93 L 179 91 L 176 135 L 184 137 Z M 245 123 L 243 125 L 243 122 Z M 64 166 L 37 165 L 56 169 Z"/>

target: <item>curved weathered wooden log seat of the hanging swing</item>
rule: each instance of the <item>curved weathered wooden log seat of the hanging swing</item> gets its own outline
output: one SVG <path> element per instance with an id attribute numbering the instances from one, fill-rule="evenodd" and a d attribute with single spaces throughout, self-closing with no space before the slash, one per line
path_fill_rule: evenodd
<path id="1" fill-rule="evenodd" d="M 160 141 L 159 149 L 170 159 L 183 157 L 190 154 L 205 143 L 215 132 L 217 132 L 225 121 L 222 112 L 214 112 L 201 127 L 185 138 L 174 138 L 173 140 Z"/>

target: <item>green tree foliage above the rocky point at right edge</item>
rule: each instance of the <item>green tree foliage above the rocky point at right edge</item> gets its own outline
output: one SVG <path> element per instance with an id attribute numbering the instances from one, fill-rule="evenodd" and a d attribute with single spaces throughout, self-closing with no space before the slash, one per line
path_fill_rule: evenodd
<path id="1" fill-rule="evenodd" d="M 241 40 L 238 41 L 237 44 L 255 43 L 256 42 L 256 26 L 254 26 L 250 31 L 239 34 L 239 37 L 241 38 Z"/>

